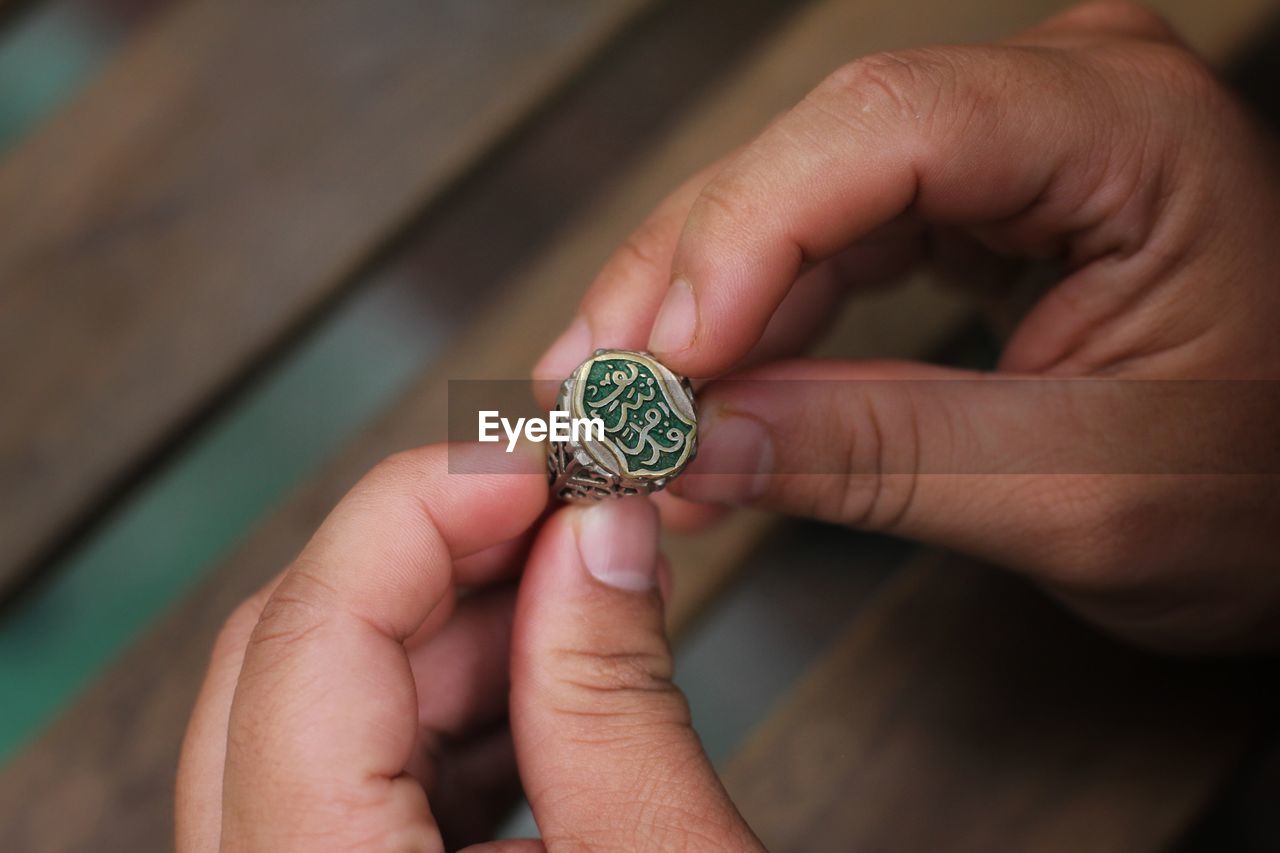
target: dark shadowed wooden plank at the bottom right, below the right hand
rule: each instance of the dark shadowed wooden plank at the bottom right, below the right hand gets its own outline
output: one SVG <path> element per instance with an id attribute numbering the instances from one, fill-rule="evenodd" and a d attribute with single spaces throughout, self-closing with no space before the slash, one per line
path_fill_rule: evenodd
<path id="1" fill-rule="evenodd" d="M 1239 672 L 1107 640 L 931 557 L 864 607 L 724 781 L 771 850 L 1166 849 L 1256 720 Z"/>

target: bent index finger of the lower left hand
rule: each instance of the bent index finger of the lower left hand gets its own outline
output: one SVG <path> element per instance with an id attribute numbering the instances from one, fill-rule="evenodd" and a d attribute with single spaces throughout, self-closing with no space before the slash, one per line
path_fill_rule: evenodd
<path id="1" fill-rule="evenodd" d="M 449 452 L 485 455 L 471 467 L 494 473 L 451 474 Z M 224 845 L 439 847 L 425 793 L 403 774 L 417 736 L 403 642 L 452 601 L 456 560 L 518 535 L 545 502 L 540 461 L 490 446 L 397 455 L 342 500 L 246 649 Z"/>

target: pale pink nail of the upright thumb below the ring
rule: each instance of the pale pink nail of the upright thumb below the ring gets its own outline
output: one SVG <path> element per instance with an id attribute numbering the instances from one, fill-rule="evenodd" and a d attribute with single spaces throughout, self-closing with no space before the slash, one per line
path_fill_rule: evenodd
<path id="1" fill-rule="evenodd" d="M 643 592 L 658 583 L 658 510 L 646 498 L 605 500 L 582 511 L 577 549 L 593 578 Z"/>

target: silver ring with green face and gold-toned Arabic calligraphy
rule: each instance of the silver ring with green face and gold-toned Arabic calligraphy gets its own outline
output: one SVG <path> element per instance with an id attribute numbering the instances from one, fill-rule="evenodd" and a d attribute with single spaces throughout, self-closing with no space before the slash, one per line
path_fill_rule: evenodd
<path id="1" fill-rule="evenodd" d="M 585 421 L 548 442 L 552 494 L 562 501 L 657 492 L 698 452 L 692 386 L 648 352 L 596 350 L 561 384 L 556 407 Z"/>

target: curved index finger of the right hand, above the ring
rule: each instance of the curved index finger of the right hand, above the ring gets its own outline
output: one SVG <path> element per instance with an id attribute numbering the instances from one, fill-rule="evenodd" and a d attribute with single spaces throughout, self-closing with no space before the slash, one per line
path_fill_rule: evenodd
<path id="1" fill-rule="evenodd" d="M 685 375 L 722 373 L 759 339 L 804 264 L 906 211 L 979 227 L 997 248 L 1065 251 L 1075 265 L 1135 254 L 1160 188 L 1161 152 L 1143 146 L 1162 136 L 1126 133 L 1161 120 L 1139 50 L 1149 69 L 1194 64 L 1167 45 L 1126 45 L 1129 65 L 1114 56 L 1117 85 L 1070 51 L 997 45 L 881 54 L 837 70 L 703 188 L 648 348 Z"/>

